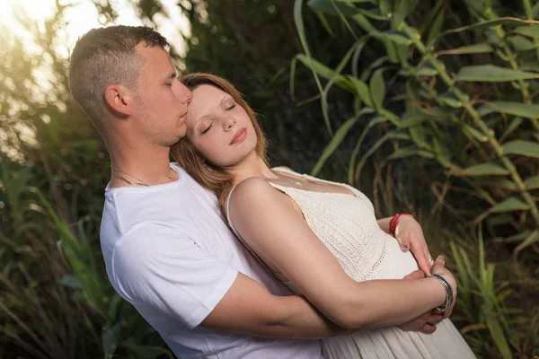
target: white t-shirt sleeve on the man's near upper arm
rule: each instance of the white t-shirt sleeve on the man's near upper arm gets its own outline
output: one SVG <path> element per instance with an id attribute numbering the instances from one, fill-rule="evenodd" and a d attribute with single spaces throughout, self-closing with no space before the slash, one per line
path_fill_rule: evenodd
<path id="1" fill-rule="evenodd" d="M 150 305 L 188 328 L 213 311 L 237 276 L 187 233 L 161 223 L 140 223 L 125 233 L 111 269 L 115 287 L 128 302 Z"/>

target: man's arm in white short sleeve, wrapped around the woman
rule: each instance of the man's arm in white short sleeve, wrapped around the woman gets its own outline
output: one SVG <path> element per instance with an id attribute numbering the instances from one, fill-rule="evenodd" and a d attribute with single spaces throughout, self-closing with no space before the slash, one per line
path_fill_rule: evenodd
<path id="1" fill-rule="evenodd" d="M 202 325 L 261 337 L 346 333 L 305 298 L 271 294 L 188 235 L 163 225 L 140 225 L 128 232 L 117 244 L 112 263 L 111 280 L 122 297 L 152 305 L 188 328 Z"/>

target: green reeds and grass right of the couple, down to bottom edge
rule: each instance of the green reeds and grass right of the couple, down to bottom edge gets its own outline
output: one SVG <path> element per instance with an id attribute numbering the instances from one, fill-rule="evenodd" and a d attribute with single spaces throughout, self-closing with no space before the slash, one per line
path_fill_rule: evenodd
<path id="1" fill-rule="evenodd" d="M 509 15 L 501 4 L 475 0 L 431 7 L 412 0 L 295 3 L 304 51 L 292 61 L 290 85 L 293 92 L 298 64 L 311 70 L 321 125 L 331 135 L 312 173 L 345 158 L 349 184 L 363 187 L 366 167 L 375 171 L 374 200 L 383 212 L 416 210 L 427 223 L 443 213 L 446 223 L 462 228 L 440 236 L 438 227 L 429 235 L 446 241 L 440 247 L 454 261 L 461 288 L 456 320 L 475 353 L 486 357 L 537 353 L 539 308 L 530 293 L 539 263 L 539 4 L 520 5 L 524 13 Z M 309 12 L 329 36 L 349 32 L 355 39 L 332 67 L 313 55 L 316 40 L 303 22 Z M 455 19 L 468 23 L 455 26 Z M 349 92 L 353 109 L 339 126 L 328 100 L 336 87 Z M 436 198 L 431 210 L 425 189 Z M 420 207 L 411 204 L 418 198 Z M 498 256 L 497 276 L 484 251 L 494 242 L 507 253 Z M 521 263 L 533 269 L 525 273 Z M 519 282 L 508 284 L 506 276 Z M 512 309 L 515 298 L 532 311 L 527 328 L 526 314 Z"/>

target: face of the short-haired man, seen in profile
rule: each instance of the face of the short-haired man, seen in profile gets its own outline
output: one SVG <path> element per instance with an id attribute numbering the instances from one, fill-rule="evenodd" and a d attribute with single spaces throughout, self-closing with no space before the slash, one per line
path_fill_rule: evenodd
<path id="1" fill-rule="evenodd" d="M 137 127 L 157 146 L 170 146 L 185 136 L 187 105 L 192 93 L 176 78 L 176 70 L 166 50 L 136 48 L 142 61 L 138 74 L 137 104 L 133 118 Z"/>

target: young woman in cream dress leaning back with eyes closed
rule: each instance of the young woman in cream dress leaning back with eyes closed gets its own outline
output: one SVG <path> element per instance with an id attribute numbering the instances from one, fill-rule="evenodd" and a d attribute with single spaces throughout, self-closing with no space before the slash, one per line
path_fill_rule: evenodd
<path id="1" fill-rule="evenodd" d="M 411 216 L 377 221 L 356 188 L 271 169 L 256 116 L 232 84 L 211 74 L 181 82 L 193 100 L 174 158 L 216 193 L 240 241 L 280 281 L 341 327 L 364 329 L 324 340 L 326 358 L 474 358 L 450 320 L 433 334 L 395 327 L 435 307 L 446 318 L 455 303 L 455 278 L 445 267 L 402 279 L 418 269 L 416 258 L 431 270 Z M 407 235 L 400 245 L 389 234 L 396 224 L 413 241 Z"/>

